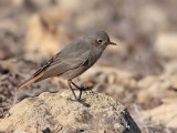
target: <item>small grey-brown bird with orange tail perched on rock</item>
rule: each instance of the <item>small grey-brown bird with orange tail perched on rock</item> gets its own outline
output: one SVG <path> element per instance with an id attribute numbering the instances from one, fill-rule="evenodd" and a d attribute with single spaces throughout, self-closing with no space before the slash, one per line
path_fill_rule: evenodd
<path id="1" fill-rule="evenodd" d="M 75 101 L 83 103 L 81 100 L 82 89 L 73 83 L 72 80 L 90 69 L 100 59 L 108 44 L 115 45 L 114 42 L 111 42 L 105 31 L 91 32 L 66 45 L 18 89 L 22 89 L 32 82 L 39 82 L 46 78 L 59 75 L 67 80 Z M 80 90 L 79 98 L 76 98 L 72 85 Z"/>

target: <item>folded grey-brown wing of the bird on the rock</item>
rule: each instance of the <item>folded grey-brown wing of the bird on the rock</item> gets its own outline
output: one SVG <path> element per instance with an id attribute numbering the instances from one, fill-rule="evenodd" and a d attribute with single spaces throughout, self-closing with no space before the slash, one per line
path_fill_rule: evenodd
<path id="1" fill-rule="evenodd" d="M 53 57 L 45 65 L 34 73 L 34 76 L 44 71 L 44 74 L 37 80 L 60 75 L 69 70 L 84 64 L 90 58 L 90 49 L 83 41 L 77 41 L 65 47 L 60 53 Z"/>

